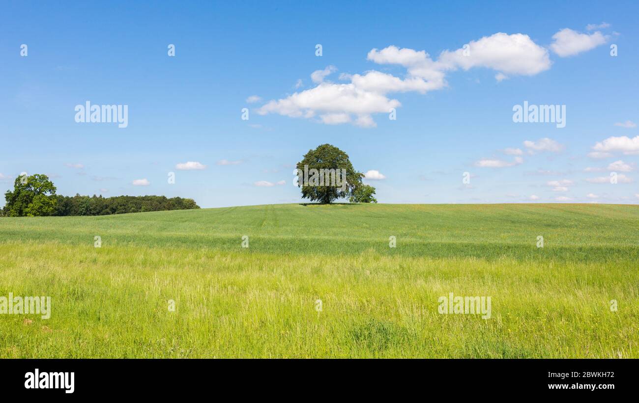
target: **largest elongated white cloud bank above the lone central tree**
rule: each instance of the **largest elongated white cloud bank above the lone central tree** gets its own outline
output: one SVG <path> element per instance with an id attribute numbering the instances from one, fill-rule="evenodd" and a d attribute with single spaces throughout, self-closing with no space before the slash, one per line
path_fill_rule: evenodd
<path id="1" fill-rule="evenodd" d="M 342 74 L 340 80 L 349 82 L 336 84 L 325 81 L 328 75 L 337 71 L 335 66 L 327 66 L 311 74 L 311 80 L 316 84 L 314 88 L 272 99 L 257 112 L 259 115 L 279 114 L 324 124 L 348 123 L 371 128 L 376 126 L 374 114 L 389 114 L 392 108 L 401 106 L 389 94 L 409 91 L 424 94 L 442 89 L 447 86 L 445 75 L 448 71 L 490 68 L 498 72 L 497 80 L 503 80 L 506 75 L 535 75 L 551 65 L 548 50 L 525 34 L 497 33 L 467 45 L 466 49 L 445 50 L 436 60 L 424 50 L 396 46 L 374 48 L 367 54 L 369 61 L 403 66 L 406 75 L 396 77 L 370 70 L 361 74 Z"/>

